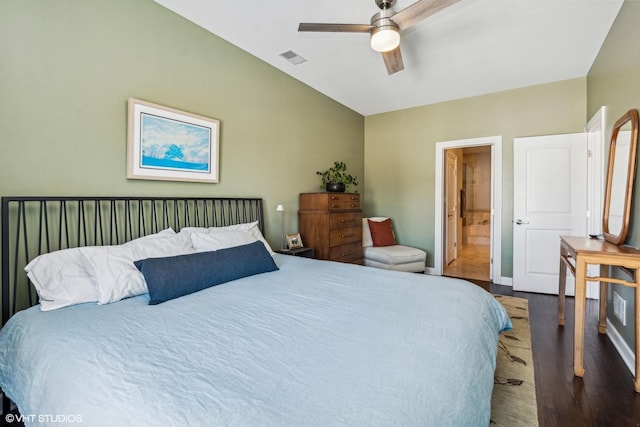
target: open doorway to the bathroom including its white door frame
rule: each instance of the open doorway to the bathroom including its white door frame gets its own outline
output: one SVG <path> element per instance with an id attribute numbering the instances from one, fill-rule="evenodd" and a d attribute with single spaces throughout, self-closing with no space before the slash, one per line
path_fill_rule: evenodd
<path id="1" fill-rule="evenodd" d="M 501 165 L 500 136 L 436 144 L 434 274 L 501 283 Z"/>

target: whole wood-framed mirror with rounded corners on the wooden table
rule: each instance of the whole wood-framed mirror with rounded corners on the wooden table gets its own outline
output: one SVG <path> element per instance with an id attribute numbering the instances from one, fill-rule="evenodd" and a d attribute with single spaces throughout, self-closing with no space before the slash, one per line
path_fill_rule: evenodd
<path id="1" fill-rule="evenodd" d="M 638 146 L 638 111 L 629 110 L 611 130 L 602 230 L 607 242 L 624 243 L 629 229 Z"/>

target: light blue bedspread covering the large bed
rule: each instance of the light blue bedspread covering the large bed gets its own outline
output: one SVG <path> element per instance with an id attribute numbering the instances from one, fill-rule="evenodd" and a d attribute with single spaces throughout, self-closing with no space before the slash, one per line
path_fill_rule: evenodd
<path id="1" fill-rule="evenodd" d="M 27 425 L 489 425 L 510 327 L 489 293 L 275 258 L 279 271 L 156 306 L 22 311 L 0 331 L 0 386 Z"/>

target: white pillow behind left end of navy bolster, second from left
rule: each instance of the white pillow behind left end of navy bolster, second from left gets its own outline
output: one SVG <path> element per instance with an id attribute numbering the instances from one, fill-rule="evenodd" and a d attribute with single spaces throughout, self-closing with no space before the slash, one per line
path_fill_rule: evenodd
<path id="1" fill-rule="evenodd" d="M 144 276 L 133 264 L 146 258 L 182 255 L 192 251 L 172 229 L 122 245 L 78 248 L 96 277 L 98 304 L 108 304 L 148 292 Z"/>

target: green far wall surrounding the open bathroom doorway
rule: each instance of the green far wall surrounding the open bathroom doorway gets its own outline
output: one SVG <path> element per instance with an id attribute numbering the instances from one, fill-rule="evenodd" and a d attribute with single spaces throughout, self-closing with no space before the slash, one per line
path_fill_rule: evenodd
<path id="1" fill-rule="evenodd" d="M 586 78 L 394 111 L 365 118 L 365 214 L 389 215 L 399 241 L 433 267 L 435 145 L 502 135 L 502 276 L 512 277 L 513 139 L 581 132 Z"/>

